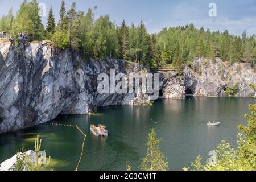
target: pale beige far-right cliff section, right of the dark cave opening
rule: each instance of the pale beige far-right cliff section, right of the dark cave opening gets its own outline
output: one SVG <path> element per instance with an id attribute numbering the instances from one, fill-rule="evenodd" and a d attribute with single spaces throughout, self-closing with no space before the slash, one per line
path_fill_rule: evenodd
<path id="1" fill-rule="evenodd" d="M 194 96 L 226 96 L 227 88 L 234 89 L 234 96 L 253 97 L 249 84 L 255 84 L 255 66 L 249 63 L 223 62 L 220 59 L 199 58 L 185 67 L 185 88 Z"/>

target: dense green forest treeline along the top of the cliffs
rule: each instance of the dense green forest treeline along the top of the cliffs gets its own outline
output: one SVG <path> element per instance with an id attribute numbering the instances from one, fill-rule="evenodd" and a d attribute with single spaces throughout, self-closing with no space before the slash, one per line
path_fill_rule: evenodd
<path id="1" fill-rule="evenodd" d="M 155 69 L 172 64 L 181 68 L 183 63 L 196 57 L 221 57 L 232 63 L 256 60 L 256 36 L 248 37 L 246 31 L 241 36 L 224 32 L 200 30 L 193 24 L 185 27 L 163 28 L 157 34 L 148 34 L 143 22 L 138 26 L 127 26 L 125 20 L 118 25 L 109 15 L 94 19 L 94 9 L 87 13 L 76 11 L 76 3 L 69 10 L 61 2 L 60 19 L 57 25 L 49 10 L 47 26 L 44 28 L 36 0 L 20 5 L 14 17 L 13 11 L 0 20 L 0 31 L 17 34 L 27 32 L 30 40 L 49 39 L 60 48 L 71 48 L 81 52 L 85 59 L 96 60 L 106 56 L 117 57 L 150 65 Z"/>

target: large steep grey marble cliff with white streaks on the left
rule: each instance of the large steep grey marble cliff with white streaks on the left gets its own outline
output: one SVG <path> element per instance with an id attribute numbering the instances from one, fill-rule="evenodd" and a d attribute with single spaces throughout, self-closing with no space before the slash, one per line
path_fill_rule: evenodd
<path id="1" fill-rule="evenodd" d="M 148 104 L 147 94 L 99 94 L 98 74 L 141 72 L 142 65 L 106 59 L 86 63 L 47 42 L 0 43 L 0 133 L 38 125 L 57 115 L 92 113 L 98 106 Z"/>

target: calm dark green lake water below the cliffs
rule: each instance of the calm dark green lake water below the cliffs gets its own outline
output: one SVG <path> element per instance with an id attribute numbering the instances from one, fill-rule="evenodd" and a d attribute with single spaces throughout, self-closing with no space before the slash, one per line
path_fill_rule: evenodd
<path id="1" fill-rule="evenodd" d="M 163 138 L 161 148 L 171 170 L 181 170 L 201 155 L 203 160 L 221 140 L 236 147 L 237 125 L 246 125 L 245 113 L 253 98 L 187 97 L 185 100 L 158 100 L 152 106 L 109 106 L 96 115 L 60 115 L 54 123 L 78 125 L 87 134 L 79 170 L 125 170 L 126 163 L 139 169 L 146 154 L 147 134 L 156 128 Z M 208 127 L 209 120 L 221 125 Z M 95 137 L 90 124 L 108 127 L 108 137 Z M 39 125 L 0 135 L 0 162 L 24 146 L 34 148 L 39 134 L 42 150 L 57 162 L 55 170 L 73 170 L 81 152 L 83 136 L 71 127 Z"/>

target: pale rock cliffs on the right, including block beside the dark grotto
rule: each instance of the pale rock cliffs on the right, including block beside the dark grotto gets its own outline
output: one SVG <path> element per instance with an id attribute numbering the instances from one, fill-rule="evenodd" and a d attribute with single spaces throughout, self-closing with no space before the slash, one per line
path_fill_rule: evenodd
<path id="1" fill-rule="evenodd" d="M 186 94 L 205 97 L 226 96 L 226 89 L 235 90 L 236 97 L 253 97 L 249 84 L 255 84 L 256 67 L 221 59 L 199 58 L 184 68 L 184 76 L 176 72 L 160 72 L 162 98 L 182 99 Z"/>

